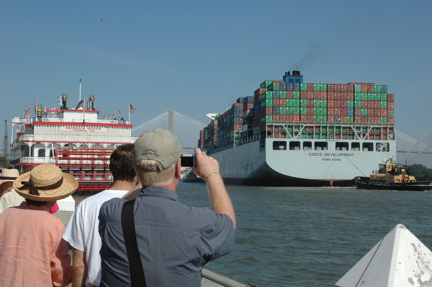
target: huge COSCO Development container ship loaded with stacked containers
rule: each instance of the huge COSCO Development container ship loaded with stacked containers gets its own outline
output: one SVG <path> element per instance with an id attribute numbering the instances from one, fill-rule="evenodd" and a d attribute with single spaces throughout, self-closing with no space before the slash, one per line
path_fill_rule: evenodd
<path id="1" fill-rule="evenodd" d="M 299 71 L 266 80 L 200 131 L 226 184 L 352 186 L 396 155 L 387 85 L 304 83 Z"/>

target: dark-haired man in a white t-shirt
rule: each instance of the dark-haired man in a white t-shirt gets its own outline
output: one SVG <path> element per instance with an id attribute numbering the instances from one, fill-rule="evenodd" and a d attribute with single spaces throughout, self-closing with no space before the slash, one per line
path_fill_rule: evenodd
<path id="1" fill-rule="evenodd" d="M 63 234 L 64 240 L 72 246 L 73 286 L 99 286 L 101 281 L 101 249 L 99 236 L 99 210 L 102 203 L 115 197 L 123 197 L 137 184 L 133 169 L 133 144 L 119 145 L 111 154 L 109 169 L 113 185 L 84 199 L 73 211 Z"/>

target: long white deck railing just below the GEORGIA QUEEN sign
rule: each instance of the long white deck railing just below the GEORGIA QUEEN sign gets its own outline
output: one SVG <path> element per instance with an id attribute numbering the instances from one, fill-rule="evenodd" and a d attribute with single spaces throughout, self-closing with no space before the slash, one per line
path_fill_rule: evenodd
<path id="1" fill-rule="evenodd" d="M 20 141 L 30 142 L 120 142 L 133 143 L 135 136 L 71 136 L 71 135 L 21 135 Z"/>

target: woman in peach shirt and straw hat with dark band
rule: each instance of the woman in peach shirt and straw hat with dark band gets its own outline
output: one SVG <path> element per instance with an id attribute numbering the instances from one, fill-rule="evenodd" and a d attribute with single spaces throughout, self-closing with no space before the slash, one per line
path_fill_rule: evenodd
<path id="1" fill-rule="evenodd" d="M 13 188 L 25 202 L 0 214 L 0 286 L 60 286 L 72 281 L 64 224 L 48 212 L 78 183 L 54 164 L 19 176 Z"/>

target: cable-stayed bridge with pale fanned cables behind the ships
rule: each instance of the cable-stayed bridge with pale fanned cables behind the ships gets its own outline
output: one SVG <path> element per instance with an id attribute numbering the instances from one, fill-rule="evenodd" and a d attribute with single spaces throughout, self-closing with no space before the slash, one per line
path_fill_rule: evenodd
<path id="1" fill-rule="evenodd" d="M 182 147 L 194 148 L 198 144 L 200 130 L 207 125 L 208 123 L 201 123 L 169 109 L 165 113 L 133 127 L 132 136 L 140 136 L 141 133 L 151 129 L 167 129 L 178 137 Z M 428 142 L 427 137 L 432 136 L 432 130 L 420 140 L 413 139 L 398 130 L 396 130 L 395 134 L 397 152 L 432 154 L 432 144 L 425 144 L 425 142 Z"/>

